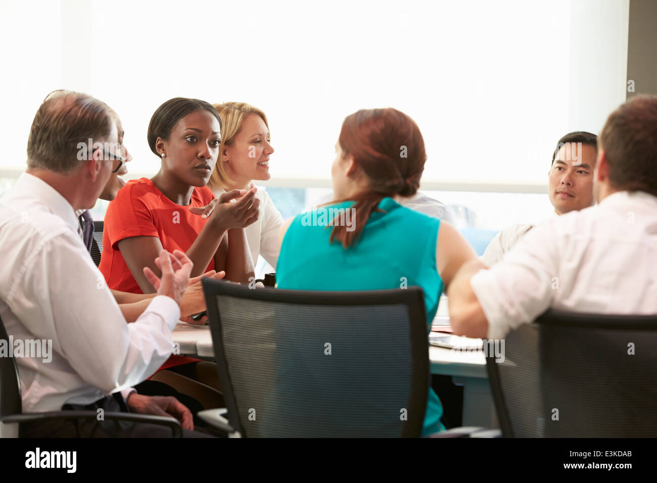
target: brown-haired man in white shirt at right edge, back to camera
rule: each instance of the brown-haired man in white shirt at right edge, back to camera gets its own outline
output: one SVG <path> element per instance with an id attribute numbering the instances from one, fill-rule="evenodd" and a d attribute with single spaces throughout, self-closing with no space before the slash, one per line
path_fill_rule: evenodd
<path id="1" fill-rule="evenodd" d="M 657 96 L 637 96 L 598 143 L 598 204 L 533 228 L 498 264 L 464 264 L 453 279 L 456 334 L 503 338 L 549 308 L 657 314 Z"/>

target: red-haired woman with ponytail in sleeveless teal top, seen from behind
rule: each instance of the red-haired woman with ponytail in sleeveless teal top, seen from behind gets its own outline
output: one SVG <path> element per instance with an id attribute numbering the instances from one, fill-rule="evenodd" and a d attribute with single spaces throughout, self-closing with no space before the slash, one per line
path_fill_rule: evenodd
<path id="1" fill-rule="evenodd" d="M 331 175 L 336 200 L 330 208 L 346 208 L 351 216 L 344 212 L 342 222 L 331 223 L 325 206 L 288 221 L 281 229 L 277 287 L 419 286 L 430 326 L 443 290 L 476 254 L 448 223 L 399 204 L 417 193 L 424 170 L 426 152 L 419 127 L 393 108 L 359 110 L 344 120 L 335 148 Z M 429 389 L 423 436 L 444 429 L 442 413 L 438 396 Z"/>

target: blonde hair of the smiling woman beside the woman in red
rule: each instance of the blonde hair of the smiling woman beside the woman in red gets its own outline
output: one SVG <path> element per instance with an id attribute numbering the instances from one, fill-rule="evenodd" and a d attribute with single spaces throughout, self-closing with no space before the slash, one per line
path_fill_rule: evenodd
<path id="1" fill-rule="evenodd" d="M 258 114 L 258 116 L 260 116 L 265 122 L 267 131 L 269 131 L 267 116 L 265 116 L 264 112 L 251 104 L 223 103 L 214 104 L 214 108 L 219 112 L 219 117 L 221 118 L 221 141 L 219 143 L 219 158 L 217 159 L 217 165 L 210 176 L 210 181 L 208 181 L 208 187 L 213 190 L 215 188 L 225 188 L 233 183 L 233 180 L 226 172 L 225 162 L 223 162 L 223 149 L 225 146 L 233 145 L 235 136 L 237 136 L 240 129 L 242 129 L 244 118 L 248 116 L 248 114 Z M 269 141 L 269 139 L 269 134 L 267 134 L 267 141 Z"/>

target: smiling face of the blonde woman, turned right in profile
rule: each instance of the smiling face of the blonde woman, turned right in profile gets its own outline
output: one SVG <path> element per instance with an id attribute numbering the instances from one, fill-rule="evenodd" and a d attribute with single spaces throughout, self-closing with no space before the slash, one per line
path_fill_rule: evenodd
<path id="1" fill-rule="evenodd" d="M 246 186 L 252 179 L 267 180 L 271 177 L 269 154 L 273 152 L 265 122 L 258 114 L 247 114 L 233 143 L 224 146 L 226 173 L 239 187 Z"/>

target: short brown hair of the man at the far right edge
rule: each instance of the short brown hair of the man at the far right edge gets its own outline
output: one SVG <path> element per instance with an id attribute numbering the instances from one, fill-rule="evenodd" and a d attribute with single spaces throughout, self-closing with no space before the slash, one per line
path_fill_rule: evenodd
<path id="1" fill-rule="evenodd" d="M 612 112 L 599 143 L 614 189 L 657 196 L 657 96 L 637 95 Z"/>

